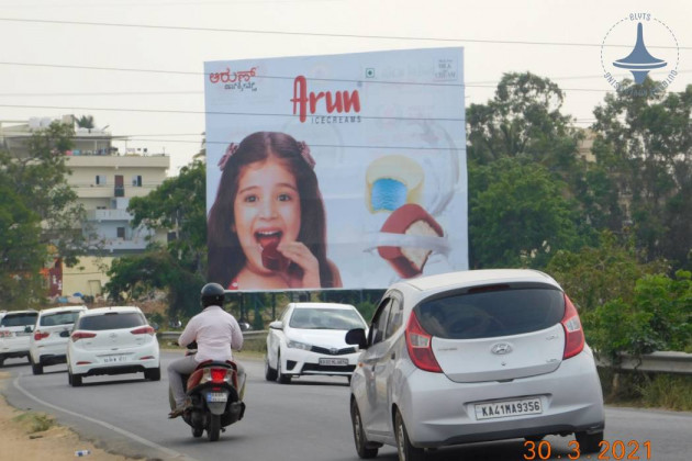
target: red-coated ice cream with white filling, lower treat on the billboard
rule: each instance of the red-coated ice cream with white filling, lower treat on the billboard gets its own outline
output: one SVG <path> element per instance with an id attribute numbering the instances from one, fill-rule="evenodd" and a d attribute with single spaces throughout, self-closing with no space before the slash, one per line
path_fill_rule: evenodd
<path id="1" fill-rule="evenodd" d="M 442 226 L 429 215 L 422 206 L 410 203 L 397 209 L 382 225 L 382 233 L 403 234 L 420 238 L 421 245 L 415 246 L 380 246 L 379 255 L 386 259 L 397 273 L 404 278 L 423 273 L 423 268 L 427 258 L 433 252 L 431 248 L 426 248 L 426 237 L 443 237 L 444 231 Z"/>

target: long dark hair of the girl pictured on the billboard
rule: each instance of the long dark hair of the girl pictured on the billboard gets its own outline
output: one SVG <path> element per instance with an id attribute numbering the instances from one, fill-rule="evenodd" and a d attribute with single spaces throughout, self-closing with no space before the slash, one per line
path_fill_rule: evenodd
<path id="1" fill-rule="evenodd" d="M 298 240 L 317 258 L 322 288 L 332 288 L 334 273 L 326 258 L 326 214 L 317 177 L 301 155 L 300 143 L 288 134 L 276 132 L 257 132 L 247 136 L 223 166 L 216 200 L 208 220 L 209 282 L 221 283 L 227 289 L 245 266 L 245 254 L 237 234 L 232 231 L 239 176 L 246 166 L 270 157 L 283 160 L 295 177 L 301 209 Z M 289 271 L 298 278 L 302 277 L 302 269 L 295 265 L 291 265 Z"/>

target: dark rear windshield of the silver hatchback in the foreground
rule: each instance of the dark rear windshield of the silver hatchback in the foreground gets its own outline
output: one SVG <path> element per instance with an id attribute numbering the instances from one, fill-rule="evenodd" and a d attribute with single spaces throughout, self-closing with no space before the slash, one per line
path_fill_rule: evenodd
<path id="1" fill-rule="evenodd" d="M 491 338 L 551 327 L 565 315 L 565 295 L 549 288 L 500 288 L 426 301 L 415 312 L 433 336 Z"/>

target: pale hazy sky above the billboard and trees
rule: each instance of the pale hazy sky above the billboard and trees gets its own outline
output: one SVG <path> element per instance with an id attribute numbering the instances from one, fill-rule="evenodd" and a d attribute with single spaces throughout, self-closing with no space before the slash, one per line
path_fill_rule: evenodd
<path id="1" fill-rule="evenodd" d="M 692 83 L 690 0 L 0 0 L 0 120 L 91 114 L 176 175 L 202 139 L 207 60 L 464 46 L 467 105 L 528 70 L 588 126 L 614 91 L 602 52 L 630 52 L 636 13 L 649 52 L 677 65 L 670 89 Z"/>

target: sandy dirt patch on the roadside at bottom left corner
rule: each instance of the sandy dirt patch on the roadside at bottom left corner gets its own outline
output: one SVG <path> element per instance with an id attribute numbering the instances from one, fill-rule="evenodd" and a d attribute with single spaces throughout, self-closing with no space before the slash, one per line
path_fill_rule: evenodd
<path id="1" fill-rule="evenodd" d="M 4 389 L 7 372 L 0 372 L 0 387 Z M 109 453 L 80 437 L 68 427 L 58 426 L 55 419 L 40 412 L 24 412 L 9 405 L 0 396 L 0 447 L 8 459 L 25 461 L 133 461 L 143 458 L 127 458 Z M 78 451 L 88 454 L 78 457 Z M 4 454 L 3 454 L 4 456 Z M 4 458 L 3 458 L 4 459 Z"/>

